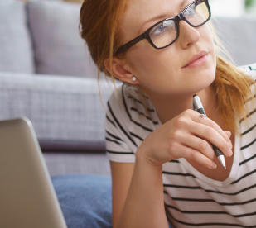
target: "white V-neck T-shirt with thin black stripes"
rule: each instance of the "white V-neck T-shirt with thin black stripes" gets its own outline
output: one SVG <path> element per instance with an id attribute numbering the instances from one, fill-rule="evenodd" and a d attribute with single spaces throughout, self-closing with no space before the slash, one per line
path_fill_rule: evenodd
<path id="1" fill-rule="evenodd" d="M 256 64 L 240 69 L 256 79 Z M 255 94 L 254 85 L 251 88 Z M 144 107 L 133 88 L 121 85 L 109 98 L 104 121 L 109 160 L 134 163 L 142 141 L 162 125 L 155 107 L 147 97 L 145 100 L 147 116 L 142 115 Z M 242 136 L 235 135 L 234 163 L 225 181 L 207 178 L 186 159 L 162 165 L 164 200 L 172 228 L 256 227 L 256 108 L 252 105 L 249 115 L 249 124 L 237 121 Z"/>

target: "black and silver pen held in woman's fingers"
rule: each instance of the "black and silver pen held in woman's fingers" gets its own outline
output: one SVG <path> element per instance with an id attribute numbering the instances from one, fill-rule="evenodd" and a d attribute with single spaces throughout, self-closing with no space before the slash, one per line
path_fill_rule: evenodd
<path id="1" fill-rule="evenodd" d="M 206 116 L 205 109 L 204 109 L 202 103 L 200 102 L 200 98 L 196 94 L 193 95 L 193 109 L 196 112 L 199 112 L 200 114 L 204 114 Z M 217 146 L 215 146 L 213 144 L 211 144 L 211 145 L 212 145 L 213 150 L 215 151 L 215 155 L 216 155 L 217 159 L 220 161 L 220 164 L 226 169 L 225 157 L 224 157 L 223 153 Z"/>

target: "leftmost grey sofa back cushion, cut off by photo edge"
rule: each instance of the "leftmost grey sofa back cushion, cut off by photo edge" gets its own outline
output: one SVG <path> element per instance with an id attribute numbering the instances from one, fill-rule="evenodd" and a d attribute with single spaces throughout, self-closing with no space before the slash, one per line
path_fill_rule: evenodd
<path id="1" fill-rule="evenodd" d="M 34 72 L 23 2 L 0 1 L 0 71 L 27 74 Z"/>

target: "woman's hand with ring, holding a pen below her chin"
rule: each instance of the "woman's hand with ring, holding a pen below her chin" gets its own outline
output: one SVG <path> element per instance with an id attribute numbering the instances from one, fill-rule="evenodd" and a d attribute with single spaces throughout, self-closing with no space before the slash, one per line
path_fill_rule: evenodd
<path id="1" fill-rule="evenodd" d="M 215 121 L 191 109 L 167 121 L 142 142 L 137 156 L 146 156 L 152 165 L 162 165 L 172 159 L 192 159 L 209 169 L 215 169 L 214 150 L 209 142 L 220 148 L 225 156 L 232 155 L 230 132 L 223 131 Z"/>

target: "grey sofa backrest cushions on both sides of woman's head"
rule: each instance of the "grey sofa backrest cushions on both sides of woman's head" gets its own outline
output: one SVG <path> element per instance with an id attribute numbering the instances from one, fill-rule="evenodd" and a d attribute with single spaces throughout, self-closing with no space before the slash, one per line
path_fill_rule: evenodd
<path id="1" fill-rule="evenodd" d="M 75 3 L 31 1 L 26 12 L 23 2 L 0 1 L 0 72 L 95 77 L 79 16 Z M 214 24 L 235 64 L 256 62 L 255 16 L 217 17 Z"/>

